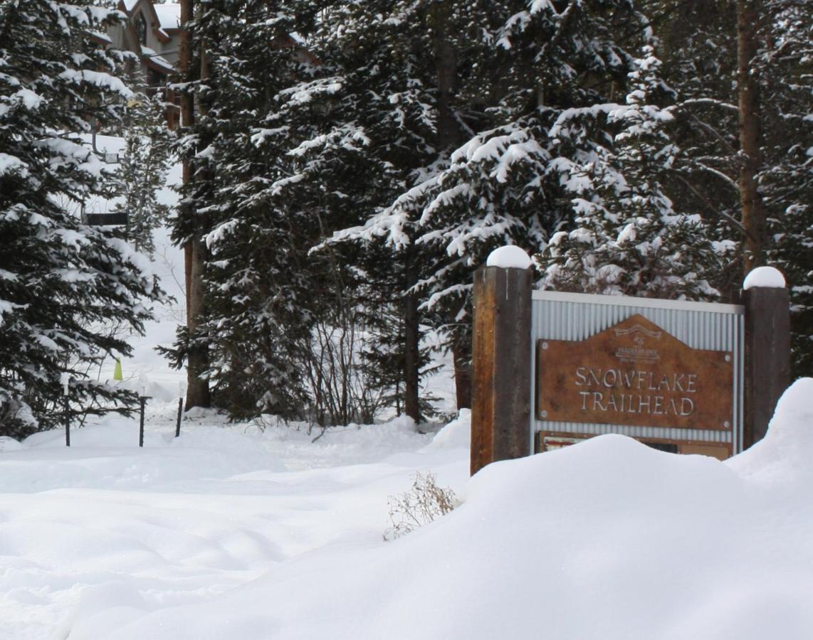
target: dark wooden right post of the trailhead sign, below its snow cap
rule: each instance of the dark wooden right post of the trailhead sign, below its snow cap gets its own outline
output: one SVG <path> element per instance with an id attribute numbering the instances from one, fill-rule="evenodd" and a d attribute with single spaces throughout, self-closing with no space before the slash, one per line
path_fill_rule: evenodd
<path id="1" fill-rule="evenodd" d="M 747 282 L 741 296 L 746 307 L 744 448 L 763 439 L 776 402 L 790 383 L 788 290 L 748 288 Z"/>

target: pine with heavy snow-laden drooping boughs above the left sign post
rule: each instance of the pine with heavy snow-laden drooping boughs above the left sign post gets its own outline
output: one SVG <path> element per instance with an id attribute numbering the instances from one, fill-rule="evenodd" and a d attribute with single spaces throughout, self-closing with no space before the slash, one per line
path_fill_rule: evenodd
<path id="1" fill-rule="evenodd" d="M 465 52 L 455 107 L 469 140 L 439 152 L 354 233 L 380 236 L 395 252 L 420 251 L 426 269 L 415 290 L 424 314 L 465 344 L 472 272 L 489 250 L 514 242 L 535 253 L 571 223 L 576 174 L 606 136 L 584 123 L 559 138 L 548 130 L 560 116 L 623 95 L 633 59 L 624 40 L 645 20 L 632 2 L 519 0 L 454 4 L 450 19 L 452 42 Z"/>

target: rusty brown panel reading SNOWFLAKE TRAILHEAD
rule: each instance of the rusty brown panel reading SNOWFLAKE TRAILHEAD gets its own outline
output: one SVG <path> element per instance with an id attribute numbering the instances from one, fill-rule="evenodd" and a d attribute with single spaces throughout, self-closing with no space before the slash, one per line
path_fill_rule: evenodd
<path id="1" fill-rule="evenodd" d="M 537 340 L 537 419 L 730 430 L 731 352 L 690 348 L 640 314 L 587 339 Z"/>

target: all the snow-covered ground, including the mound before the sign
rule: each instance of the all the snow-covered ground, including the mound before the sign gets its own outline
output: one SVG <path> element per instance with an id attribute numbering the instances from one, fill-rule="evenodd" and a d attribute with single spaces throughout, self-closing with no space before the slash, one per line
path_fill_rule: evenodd
<path id="1" fill-rule="evenodd" d="M 155 268 L 178 301 L 124 361 L 145 447 L 120 417 L 69 449 L 0 440 L 2 640 L 813 638 L 813 379 L 726 462 L 610 435 L 470 479 L 466 413 L 312 442 L 197 410 L 176 439 L 182 374 L 152 348 L 182 319 L 180 253 Z M 424 470 L 461 504 L 385 542 Z"/>

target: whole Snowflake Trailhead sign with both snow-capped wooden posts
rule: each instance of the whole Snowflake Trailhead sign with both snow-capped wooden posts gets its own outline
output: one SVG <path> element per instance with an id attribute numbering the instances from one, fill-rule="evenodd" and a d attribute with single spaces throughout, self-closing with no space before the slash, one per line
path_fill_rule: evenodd
<path id="1" fill-rule="evenodd" d="M 789 385 L 780 273 L 736 304 L 539 291 L 504 249 L 474 278 L 472 474 L 605 434 L 720 459 L 763 438 Z"/>

